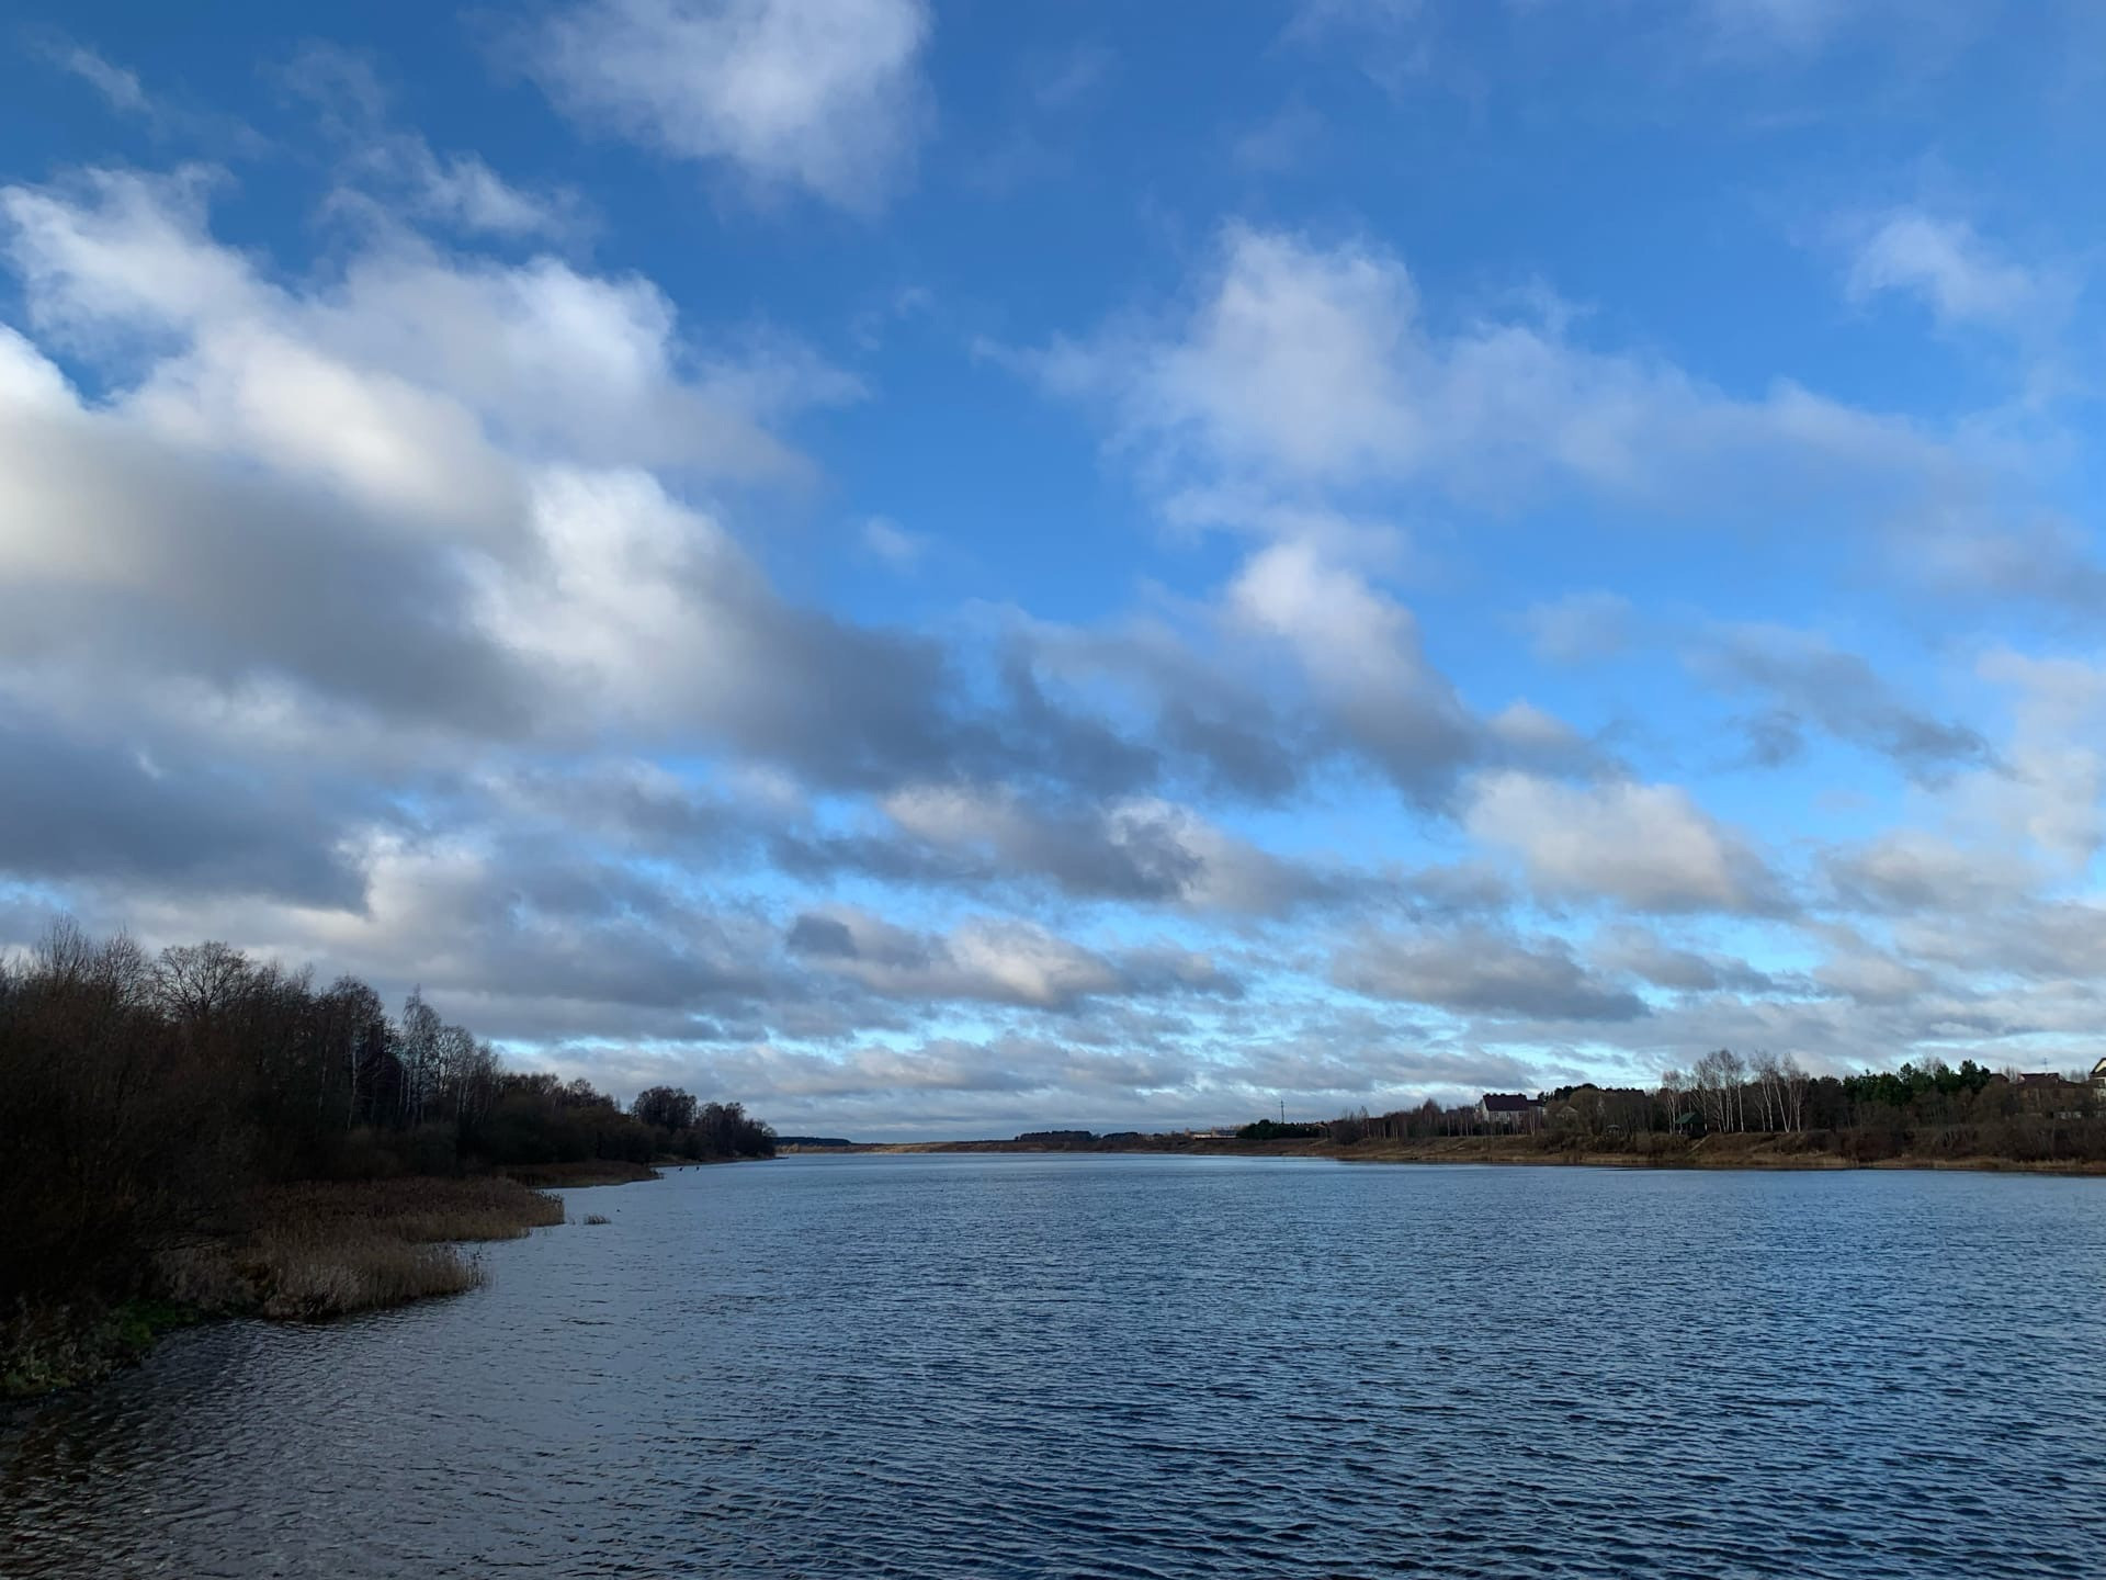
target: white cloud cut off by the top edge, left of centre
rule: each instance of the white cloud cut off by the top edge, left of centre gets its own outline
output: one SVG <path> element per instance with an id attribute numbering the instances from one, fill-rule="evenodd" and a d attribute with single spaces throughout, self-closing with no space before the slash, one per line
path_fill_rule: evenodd
<path id="1" fill-rule="evenodd" d="M 583 0 L 529 70 L 579 120 L 870 213 L 912 166 L 929 32 L 925 0 Z"/>

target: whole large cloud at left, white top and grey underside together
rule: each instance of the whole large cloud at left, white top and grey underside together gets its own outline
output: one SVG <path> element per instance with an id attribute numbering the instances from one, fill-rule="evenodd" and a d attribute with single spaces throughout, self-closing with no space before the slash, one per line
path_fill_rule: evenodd
<path id="1" fill-rule="evenodd" d="M 920 649 L 783 607 L 655 470 L 798 478 L 758 417 L 853 388 L 809 352 L 703 356 L 640 278 L 402 234 L 280 284 L 211 236 L 211 181 L 0 190 L 27 322 L 103 379 L 78 398 L 0 341 L 0 647 L 40 655 L 38 685 L 72 685 L 67 653 L 105 683 L 141 666 L 131 699 L 196 687 L 204 718 L 373 708 L 497 737 L 533 689 L 541 731 L 678 720 L 762 756 L 937 706 Z M 855 674 L 807 693 L 813 661 Z M 800 735 L 815 695 L 842 714 Z"/>

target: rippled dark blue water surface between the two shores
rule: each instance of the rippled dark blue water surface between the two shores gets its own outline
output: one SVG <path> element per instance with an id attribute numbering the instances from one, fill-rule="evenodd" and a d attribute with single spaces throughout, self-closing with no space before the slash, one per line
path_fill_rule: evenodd
<path id="1" fill-rule="evenodd" d="M 859 1157 L 0 1424 L 0 1574 L 2106 1576 L 2106 1182 Z"/>

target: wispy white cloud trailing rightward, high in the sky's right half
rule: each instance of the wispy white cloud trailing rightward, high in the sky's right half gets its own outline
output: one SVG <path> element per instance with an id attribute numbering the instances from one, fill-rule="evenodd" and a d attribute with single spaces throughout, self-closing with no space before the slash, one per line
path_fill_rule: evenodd
<path id="1" fill-rule="evenodd" d="M 1906 421 L 1792 383 L 1737 398 L 1588 350 L 1561 318 L 1441 333 L 1388 249 L 1230 223 L 1181 316 L 1055 341 L 1026 367 L 1095 404 L 1167 499 L 1428 485 L 1504 506 L 1575 485 L 1655 508 L 1839 508 L 1916 501 L 1954 470 Z"/>

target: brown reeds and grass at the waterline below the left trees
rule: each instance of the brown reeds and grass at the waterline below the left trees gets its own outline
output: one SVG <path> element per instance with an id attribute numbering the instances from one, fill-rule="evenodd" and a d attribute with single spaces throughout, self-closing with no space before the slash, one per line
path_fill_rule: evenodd
<path id="1" fill-rule="evenodd" d="M 362 1180 L 259 1192 L 225 1235 L 162 1247 L 156 1300 L 19 1306 L 0 1319 L 0 1397 L 105 1378 L 208 1317 L 326 1321 L 482 1283 L 463 1243 L 562 1222 L 562 1201 L 501 1176 Z"/>

